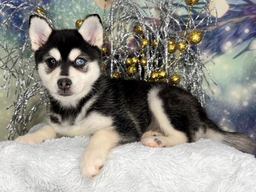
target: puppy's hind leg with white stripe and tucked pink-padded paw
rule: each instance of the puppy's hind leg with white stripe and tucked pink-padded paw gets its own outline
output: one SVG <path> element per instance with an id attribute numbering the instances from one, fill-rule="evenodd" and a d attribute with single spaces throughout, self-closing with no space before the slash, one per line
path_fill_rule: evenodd
<path id="1" fill-rule="evenodd" d="M 171 123 L 171 119 L 167 116 L 163 109 L 163 101 L 158 96 L 159 88 L 153 88 L 148 93 L 148 105 L 149 109 L 154 116 L 154 120 L 157 121 L 161 132 L 166 136 L 150 136 L 144 137 L 141 143 L 150 147 L 169 147 L 186 143 L 188 138 L 182 131 L 175 129 Z"/>

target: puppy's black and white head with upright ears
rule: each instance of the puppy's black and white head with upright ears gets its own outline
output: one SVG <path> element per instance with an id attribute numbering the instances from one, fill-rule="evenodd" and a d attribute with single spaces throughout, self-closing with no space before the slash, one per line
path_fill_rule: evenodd
<path id="1" fill-rule="evenodd" d="M 99 15 L 87 17 L 79 30 L 54 30 L 44 19 L 31 16 L 29 37 L 38 74 L 52 97 L 73 105 L 90 92 L 101 73 Z"/>

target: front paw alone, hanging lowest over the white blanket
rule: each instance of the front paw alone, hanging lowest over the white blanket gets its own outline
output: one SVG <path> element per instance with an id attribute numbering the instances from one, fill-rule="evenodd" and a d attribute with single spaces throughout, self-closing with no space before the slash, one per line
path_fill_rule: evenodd
<path id="1" fill-rule="evenodd" d="M 107 154 L 101 150 L 86 149 L 81 160 L 83 177 L 92 178 L 99 175 L 105 163 Z"/>

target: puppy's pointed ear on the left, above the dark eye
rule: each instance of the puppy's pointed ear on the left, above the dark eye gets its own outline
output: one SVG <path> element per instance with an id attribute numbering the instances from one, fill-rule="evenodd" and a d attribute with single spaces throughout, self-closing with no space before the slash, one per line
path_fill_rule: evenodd
<path id="1" fill-rule="evenodd" d="M 41 17 L 31 15 L 29 17 L 29 37 L 33 51 L 38 50 L 46 43 L 52 33 L 52 28 Z"/>

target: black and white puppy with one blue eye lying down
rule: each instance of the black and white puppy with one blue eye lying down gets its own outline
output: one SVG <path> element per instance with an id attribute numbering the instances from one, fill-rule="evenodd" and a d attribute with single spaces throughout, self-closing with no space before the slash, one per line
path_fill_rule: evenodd
<path id="1" fill-rule="evenodd" d="M 122 143 L 170 147 L 209 138 L 252 153 L 253 140 L 222 131 L 185 90 L 166 83 L 108 79 L 101 72 L 99 15 L 87 17 L 79 30 L 54 30 L 32 16 L 29 36 L 49 95 L 49 122 L 16 142 L 41 143 L 57 133 L 91 136 L 81 159 L 84 177 L 99 174 L 109 151 Z"/>

